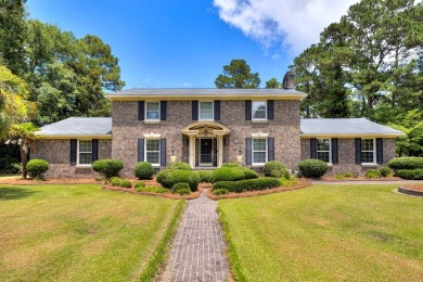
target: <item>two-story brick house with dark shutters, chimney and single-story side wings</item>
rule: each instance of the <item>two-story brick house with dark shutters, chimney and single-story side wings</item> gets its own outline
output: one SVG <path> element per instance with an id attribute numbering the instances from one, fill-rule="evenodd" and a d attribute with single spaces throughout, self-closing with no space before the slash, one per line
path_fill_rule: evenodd
<path id="1" fill-rule="evenodd" d="M 395 156 L 402 132 L 364 118 L 299 115 L 307 94 L 294 89 L 289 72 L 281 89 L 133 89 L 106 94 L 113 117 L 70 117 L 42 127 L 33 158 L 50 163 L 46 177 L 92 176 L 99 158 L 124 162 L 133 175 L 138 162 L 157 168 L 182 161 L 193 168 L 239 162 L 260 169 L 281 161 L 292 170 L 318 158 L 330 172 L 358 172 Z"/>

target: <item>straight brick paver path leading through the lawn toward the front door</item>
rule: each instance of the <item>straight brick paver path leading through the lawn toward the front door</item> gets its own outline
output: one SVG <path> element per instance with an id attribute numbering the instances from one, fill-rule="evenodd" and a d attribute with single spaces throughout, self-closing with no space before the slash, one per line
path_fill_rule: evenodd
<path id="1" fill-rule="evenodd" d="M 226 245 L 207 189 L 191 200 L 170 251 L 161 281 L 228 281 Z"/>

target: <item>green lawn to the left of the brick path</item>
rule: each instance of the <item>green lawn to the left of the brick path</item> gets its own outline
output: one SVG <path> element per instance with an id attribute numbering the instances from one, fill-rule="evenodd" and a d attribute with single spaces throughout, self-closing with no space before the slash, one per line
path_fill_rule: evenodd
<path id="1" fill-rule="evenodd" d="M 137 279 L 179 201 L 99 185 L 0 185 L 0 281 Z"/>

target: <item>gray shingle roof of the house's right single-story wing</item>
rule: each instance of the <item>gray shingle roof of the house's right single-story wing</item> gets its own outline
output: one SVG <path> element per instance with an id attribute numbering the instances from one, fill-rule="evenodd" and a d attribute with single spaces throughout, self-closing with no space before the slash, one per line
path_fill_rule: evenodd
<path id="1" fill-rule="evenodd" d="M 302 118 L 302 134 L 400 136 L 401 131 L 366 118 Z"/>

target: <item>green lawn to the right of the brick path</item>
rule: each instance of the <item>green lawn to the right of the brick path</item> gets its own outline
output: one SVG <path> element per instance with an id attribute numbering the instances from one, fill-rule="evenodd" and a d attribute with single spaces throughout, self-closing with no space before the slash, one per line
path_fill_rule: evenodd
<path id="1" fill-rule="evenodd" d="M 422 281 L 423 198 L 395 190 L 313 185 L 219 201 L 234 274 L 240 281 Z"/>

